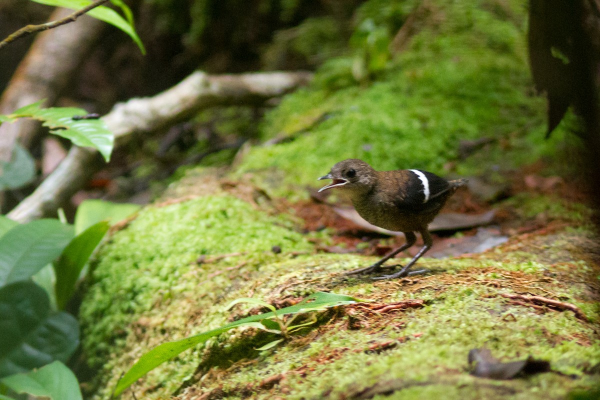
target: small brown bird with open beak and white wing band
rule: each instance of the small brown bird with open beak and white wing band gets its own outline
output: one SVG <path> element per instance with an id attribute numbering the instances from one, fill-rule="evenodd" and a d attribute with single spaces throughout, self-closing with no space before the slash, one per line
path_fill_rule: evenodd
<path id="1" fill-rule="evenodd" d="M 409 274 L 410 267 L 431 247 L 433 241 L 428 225 L 442 209 L 446 200 L 466 185 L 466 179 L 446 181 L 444 178 L 422 170 L 376 171 L 362 160 L 351 158 L 335 164 L 331 172 L 319 179 L 332 179 L 323 190 L 338 188 L 352 200 L 356 211 L 373 225 L 401 231 L 406 243 L 373 265 L 348 272 L 378 272 L 389 258 L 406 250 L 416 242 L 415 232 L 421 233 L 424 246 L 399 272 L 373 279 L 401 278 Z M 419 270 L 413 273 L 421 273 Z"/>

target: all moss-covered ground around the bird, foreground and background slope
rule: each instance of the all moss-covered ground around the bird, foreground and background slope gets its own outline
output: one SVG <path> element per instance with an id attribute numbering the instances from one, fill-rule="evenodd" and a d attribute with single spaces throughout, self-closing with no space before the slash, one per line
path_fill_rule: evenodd
<path id="1" fill-rule="evenodd" d="M 379 3 L 367 2 L 364 12 Z M 595 387 L 600 257 L 585 206 L 520 194 L 499 206 L 512 209 L 517 224 L 538 221 L 533 230 L 514 229 L 483 254 L 419 260 L 429 275 L 374 282 L 343 272 L 376 258 L 318 254 L 316 236 L 299 233 L 297 218 L 278 205 L 278 196 L 307 197 L 305 185 L 343 158 L 502 177 L 542 156 L 557 165 L 554 149 L 576 145 L 565 127 L 542 139 L 545 104 L 527 70 L 523 2 L 428 3 L 430 17 L 407 49 L 370 82 L 350 85 L 341 77 L 352 62 L 334 60 L 315 86 L 269 113 L 262 139 L 292 140 L 250 148 L 226 178 L 187 170 L 163 196 L 178 200 L 146 207 L 110 237 L 80 311 L 84 353 L 98 371 L 90 398 L 109 398 L 121 372 L 155 345 L 259 312 L 224 311 L 231 300 L 285 306 L 315 291 L 365 303 L 323 312 L 269 351 L 255 348 L 272 334 L 224 333 L 151 371 L 134 385 L 136 398 L 546 400 Z M 460 140 L 481 137 L 492 140 L 462 160 Z M 571 303 L 586 318 L 507 294 Z M 374 306 L 403 300 L 415 302 L 385 312 Z M 548 360 L 552 372 L 472 377 L 467 353 L 483 346 L 503 360 Z"/>

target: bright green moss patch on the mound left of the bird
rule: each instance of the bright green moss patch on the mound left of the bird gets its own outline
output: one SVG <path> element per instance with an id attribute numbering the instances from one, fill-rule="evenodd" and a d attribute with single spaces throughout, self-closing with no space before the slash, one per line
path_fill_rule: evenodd
<path id="1" fill-rule="evenodd" d="M 274 245 L 283 252 L 312 248 L 286 219 L 267 216 L 234 197 L 201 197 L 142 210 L 98 254 L 94 285 L 80 312 L 86 343 L 94 348 L 90 362 L 101 362 L 108 346 L 97 344 L 118 340 L 122 326 L 136 315 L 190 290 L 185 276 L 199 269 L 195 261 L 201 255 L 243 252 L 256 264 L 274 256 Z"/>

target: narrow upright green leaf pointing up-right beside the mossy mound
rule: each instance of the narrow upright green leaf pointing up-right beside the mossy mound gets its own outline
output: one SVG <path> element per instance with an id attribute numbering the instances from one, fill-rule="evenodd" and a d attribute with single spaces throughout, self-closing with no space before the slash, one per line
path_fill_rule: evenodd
<path id="1" fill-rule="evenodd" d="M 64 309 L 73 296 L 83 266 L 108 230 L 109 223 L 106 221 L 92 225 L 71 240 L 62 251 L 61 257 L 53 263 L 56 275 L 56 305 L 59 309 Z"/>

